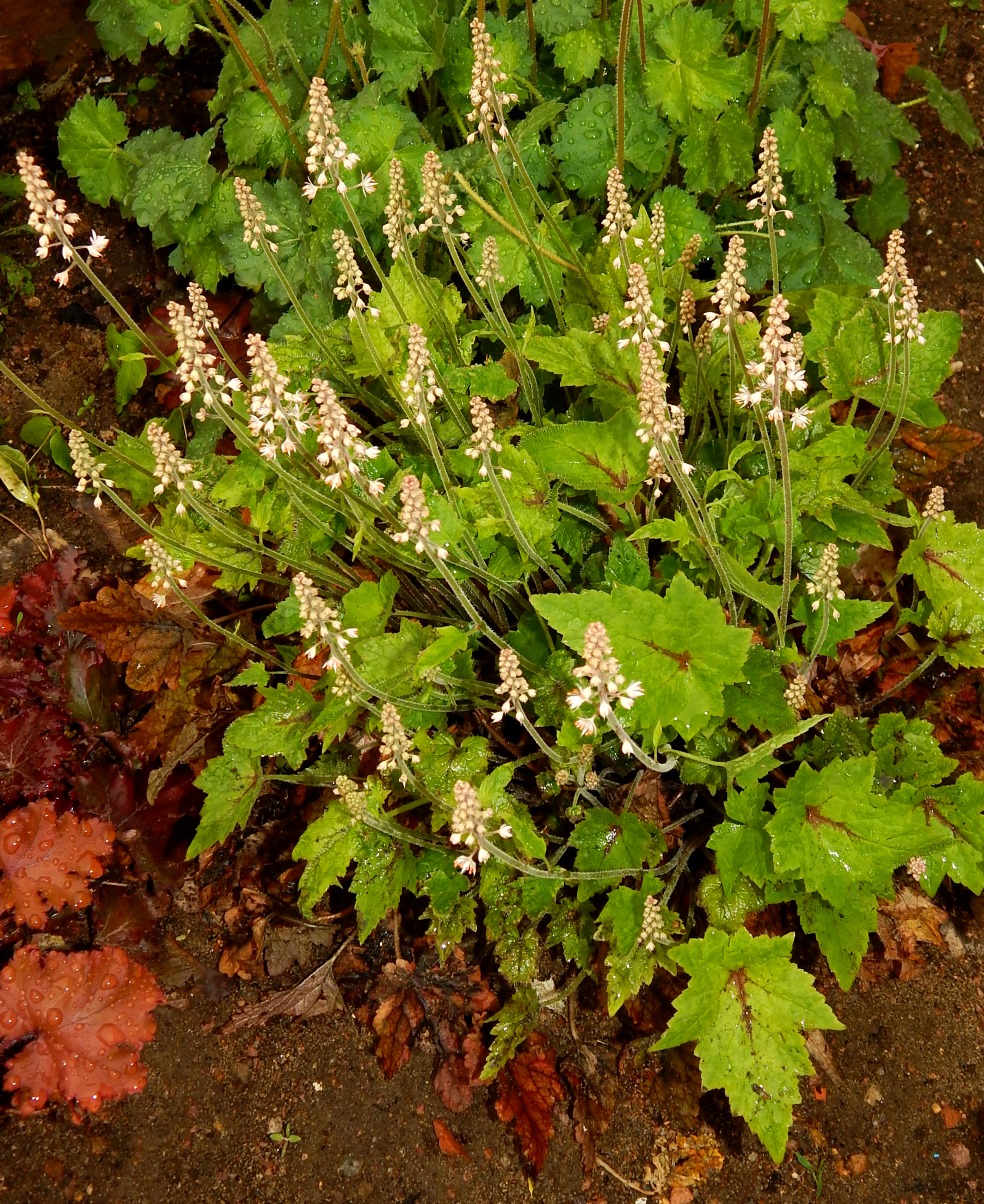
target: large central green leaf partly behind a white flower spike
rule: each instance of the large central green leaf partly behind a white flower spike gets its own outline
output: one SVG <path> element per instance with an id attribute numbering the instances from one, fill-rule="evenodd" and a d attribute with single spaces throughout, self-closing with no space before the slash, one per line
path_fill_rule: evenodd
<path id="1" fill-rule="evenodd" d="M 715 726 L 724 686 L 743 680 L 752 633 L 729 626 L 720 604 L 683 573 L 662 597 L 617 586 L 611 594 L 542 595 L 534 606 L 577 653 L 589 622 L 606 625 L 623 671 L 646 691 L 620 718 L 631 715 L 647 737 L 658 727 L 690 737 Z"/>

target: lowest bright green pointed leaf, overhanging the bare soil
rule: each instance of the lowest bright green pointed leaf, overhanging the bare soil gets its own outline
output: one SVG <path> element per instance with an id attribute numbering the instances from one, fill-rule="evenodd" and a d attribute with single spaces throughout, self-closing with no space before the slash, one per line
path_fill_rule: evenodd
<path id="1" fill-rule="evenodd" d="M 712 928 L 674 949 L 690 982 L 654 1046 L 696 1041 L 705 1090 L 724 1087 L 777 1163 L 800 1102 L 797 1078 L 813 1070 L 805 1034 L 843 1028 L 812 976 L 791 964 L 791 933 L 752 937 L 744 928 L 730 936 Z"/>

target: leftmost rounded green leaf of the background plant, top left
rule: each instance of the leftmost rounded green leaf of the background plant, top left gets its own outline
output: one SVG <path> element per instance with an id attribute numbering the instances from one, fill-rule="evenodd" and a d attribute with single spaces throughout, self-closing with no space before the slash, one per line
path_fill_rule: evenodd
<path id="1" fill-rule="evenodd" d="M 82 96 L 58 128 L 58 153 L 65 171 L 96 205 L 122 201 L 130 190 L 132 165 L 120 149 L 126 118 L 112 100 Z"/>

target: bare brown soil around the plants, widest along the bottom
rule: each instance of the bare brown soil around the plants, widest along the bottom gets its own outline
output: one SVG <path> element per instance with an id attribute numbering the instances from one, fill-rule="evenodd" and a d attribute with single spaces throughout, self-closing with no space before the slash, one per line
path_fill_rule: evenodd
<path id="1" fill-rule="evenodd" d="M 22 16 L 22 10 L 43 7 L 18 5 L 11 12 L 17 8 Z M 5 118 L 17 98 L 10 83 L 0 93 L 0 130 L 16 129 L 47 163 L 55 161 L 53 123 L 75 95 L 101 75 L 114 73 L 126 90 L 155 70 L 153 58 L 135 70 L 108 65 L 93 40 L 77 33 L 82 7 L 51 4 L 52 23 L 40 23 L 47 37 L 42 46 L 16 41 L 17 13 L 13 34 L 7 33 L 11 25 L 5 30 L 16 49 L 4 52 L 0 41 L 0 53 L 7 53 L 0 63 L 2 79 L 29 72 L 42 104 L 36 114 Z M 965 90 L 984 125 L 978 90 L 984 79 L 976 78 L 984 75 L 980 13 L 947 0 L 872 0 L 861 16 L 879 42 L 919 39 L 921 61 L 945 84 Z M 944 24 L 948 35 L 937 52 Z M 194 72 L 194 63 L 185 70 Z M 155 98 L 154 104 L 166 102 L 166 90 Z M 153 116 L 137 108 L 135 116 L 152 124 L 167 119 L 159 108 Z M 914 107 L 908 116 L 921 132 L 902 164 L 913 205 L 911 266 L 925 303 L 959 309 L 965 325 L 962 368 L 947 382 L 941 401 L 951 423 L 984 432 L 984 272 L 976 262 L 984 260 L 982 155 L 942 130 L 926 107 Z M 124 235 L 104 213 L 93 219 L 100 231 L 114 236 L 111 278 L 132 312 L 146 312 L 161 290 L 173 287 L 164 264 L 137 231 Z M 33 244 L 26 237 L 10 237 L 2 249 L 28 260 Z M 37 295 L 14 299 L 8 317 L 0 319 L 6 321 L 0 355 L 65 409 L 78 409 L 94 394 L 89 421 L 95 429 L 111 427 L 117 415 L 101 335 L 110 315 L 81 287 L 58 293 L 48 275 L 37 271 Z M 0 435 L 14 439 L 23 403 L 0 385 Z M 140 414 L 123 418 L 124 424 L 141 421 Z M 930 480 L 944 484 L 960 519 L 984 524 L 984 449 L 942 467 L 913 456 L 908 471 L 923 489 Z M 58 536 L 87 549 L 98 567 L 113 573 L 125 563 L 119 557 L 131 542 L 128 532 L 112 515 L 94 510 L 57 472 L 49 479 L 42 476 L 42 506 Z M 13 579 L 37 557 L 36 532 L 28 530 L 25 513 L 0 498 L 0 514 L 26 532 L 10 527 L 0 536 L 0 580 Z M 709 1126 L 724 1167 L 694 1187 L 697 1204 L 984 1199 L 984 911 L 964 896 L 942 902 L 954 915 L 949 948 L 935 952 L 924 973 L 909 981 L 884 980 L 845 995 L 805 946 L 803 964 L 818 973 L 818 985 L 845 1028 L 830 1034 L 829 1064 L 802 1085 L 808 1102 L 796 1109 L 791 1152 L 780 1167 L 773 1167 L 744 1125 L 730 1117 L 720 1093 L 700 1094 L 693 1057 L 674 1054 L 637 1063 L 631 1050 L 614 1040 L 617 1026 L 602 1022 L 584 995 L 576 1017 L 578 1038 L 611 1066 L 618 1090 L 600 1157 L 624 1179 L 638 1181 L 676 1132 Z M 145 1051 L 147 1090 L 81 1126 L 59 1111 L 30 1120 L 0 1114 L 0 1200 L 629 1204 L 642 1194 L 601 1168 L 584 1181 L 573 1123 L 562 1105 L 546 1167 L 531 1182 L 482 1092 L 464 1115 L 444 1111 L 431 1088 L 434 1058 L 426 1044 L 387 1081 L 371 1034 L 347 1013 L 304 1023 L 276 1020 L 218 1035 L 217 1027 L 236 1005 L 259 998 L 263 988 L 224 980 L 216 972 L 218 928 L 207 914 L 176 911 L 169 923 L 172 950 L 185 952 L 158 967 L 170 1007 L 159 1009 L 158 1035 Z M 391 955 L 389 936 L 378 944 Z M 566 1032 L 570 1043 L 568 1021 L 554 1022 L 558 1041 Z M 438 1152 L 436 1119 L 453 1129 L 467 1158 Z M 300 1140 L 272 1143 L 272 1121 L 289 1125 Z M 821 1168 L 821 1186 L 794 1152 Z M 688 1199 L 678 1190 L 673 1204 Z"/>

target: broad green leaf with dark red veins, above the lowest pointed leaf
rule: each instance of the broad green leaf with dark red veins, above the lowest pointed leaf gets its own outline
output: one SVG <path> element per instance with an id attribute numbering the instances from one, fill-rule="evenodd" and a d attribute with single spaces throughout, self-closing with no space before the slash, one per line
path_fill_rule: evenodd
<path id="1" fill-rule="evenodd" d="M 766 827 L 776 872 L 843 908 L 854 891 L 891 895 L 891 875 L 932 843 L 925 820 L 873 790 L 873 756 L 801 765 L 773 795 Z"/>

